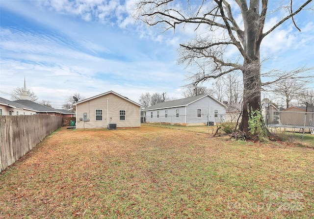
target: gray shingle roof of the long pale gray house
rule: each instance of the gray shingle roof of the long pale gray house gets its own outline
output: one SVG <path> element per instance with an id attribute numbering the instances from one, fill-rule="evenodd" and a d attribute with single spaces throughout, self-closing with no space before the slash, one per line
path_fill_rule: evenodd
<path id="1" fill-rule="evenodd" d="M 147 111 L 147 110 L 156 110 L 156 109 L 166 109 L 166 108 L 173 108 L 173 107 L 179 107 L 179 106 L 187 106 L 201 98 L 207 97 L 209 96 L 210 98 L 216 100 L 215 98 L 211 97 L 210 95 L 199 95 L 196 97 L 186 97 L 186 98 L 182 98 L 182 99 L 175 99 L 175 100 L 171 100 L 171 101 L 166 101 L 166 102 L 162 102 L 162 103 L 157 103 L 154 106 L 150 106 L 146 109 L 144 109 L 143 111 Z M 223 103 L 219 102 L 218 100 L 216 100 L 218 103 L 220 103 L 221 105 L 225 106 Z"/>

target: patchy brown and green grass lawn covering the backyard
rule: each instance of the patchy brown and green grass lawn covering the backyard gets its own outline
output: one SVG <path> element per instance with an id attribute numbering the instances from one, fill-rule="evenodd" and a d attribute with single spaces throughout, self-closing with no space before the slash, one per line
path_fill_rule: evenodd
<path id="1" fill-rule="evenodd" d="M 313 218 L 314 150 L 62 129 L 0 174 L 0 218 Z"/>

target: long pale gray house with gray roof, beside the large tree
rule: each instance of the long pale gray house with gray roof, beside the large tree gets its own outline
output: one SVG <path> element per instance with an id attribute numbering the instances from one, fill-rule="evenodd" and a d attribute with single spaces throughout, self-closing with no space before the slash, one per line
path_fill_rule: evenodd
<path id="1" fill-rule="evenodd" d="M 179 125 L 206 125 L 224 122 L 226 105 L 210 95 L 186 97 L 157 103 L 143 110 L 146 122 Z"/>

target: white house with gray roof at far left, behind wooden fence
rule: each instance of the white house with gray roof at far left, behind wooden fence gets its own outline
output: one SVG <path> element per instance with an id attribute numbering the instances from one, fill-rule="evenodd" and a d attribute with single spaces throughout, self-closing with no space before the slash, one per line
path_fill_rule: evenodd
<path id="1" fill-rule="evenodd" d="M 33 115 L 36 110 L 20 103 L 0 97 L 0 116 Z"/>

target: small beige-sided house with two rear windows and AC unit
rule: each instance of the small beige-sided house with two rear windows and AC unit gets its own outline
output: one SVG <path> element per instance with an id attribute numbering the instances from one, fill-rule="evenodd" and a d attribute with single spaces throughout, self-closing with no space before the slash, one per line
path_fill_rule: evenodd
<path id="1" fill-rule="evenodd" d="M 77 128 L 140 127 L 141 105 L 113 91 L 73 104 Z"/>

